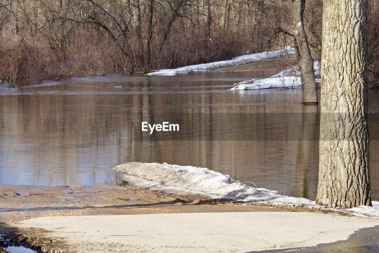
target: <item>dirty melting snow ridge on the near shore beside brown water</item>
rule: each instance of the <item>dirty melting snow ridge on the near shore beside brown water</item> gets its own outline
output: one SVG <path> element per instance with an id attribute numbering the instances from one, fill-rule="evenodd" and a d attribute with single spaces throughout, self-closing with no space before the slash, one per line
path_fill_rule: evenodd
<path id="1" fill-rule="evenodd" d="M 325 208 L 309 199 L 283 196 L 278 191 L 247 186 L 229 175 L 207 168 L 131 162 L 117 165 L 113 169 L 121 172 L 123 179 L 130 185 L 149 190 L 163 190 L 173 194 L 200 194 L 210 198 L 234 199 L 242 202 Z M 328 210 L 350 213 L 359 217 L 379 218 L 379 202 L 377 201 L 373 201 L 373 207 L 360 206 L 352 209 L 329 207 Z"/>

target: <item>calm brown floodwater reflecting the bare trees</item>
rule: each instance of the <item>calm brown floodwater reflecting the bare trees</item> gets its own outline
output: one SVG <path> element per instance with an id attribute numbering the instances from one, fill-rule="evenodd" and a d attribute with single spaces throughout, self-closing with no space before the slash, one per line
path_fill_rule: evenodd
<path id="1" fill-rule="evenodd" d="M 227 90 L 268 74 L 111 75 L 0 89 L 0 183 L 117 185 L 117 164 L 166 162 L 314 199 L 318 114 L 299 103 L 301 90 Z M 378 91 L 370 90 L 369 99 L 377 200 Z M 141 121 L 179 123 L 180 131 L 150 135 L 141 131 Z"/>

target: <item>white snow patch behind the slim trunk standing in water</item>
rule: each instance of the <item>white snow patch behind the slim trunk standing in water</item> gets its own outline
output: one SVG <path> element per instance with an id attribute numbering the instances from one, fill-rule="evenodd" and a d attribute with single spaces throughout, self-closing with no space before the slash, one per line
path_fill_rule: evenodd
<path id="1" fill-rule="evenodd" d="M 319 75 L 320 64 L 315 62 L 313 64 L 315 74 Z M 321 82 L 320 79 L 316 79 L 316 82 Z M 300 70 L 298 66 L 293 66 L 288 70 L 283 70 L 278 74 L 275 74 L 269 78 L 264 79 L 251 79 L 243 82 L 239 82 L 230 90 L 262 90 L 273 88 L 296 88 L 301 87 Z"/>

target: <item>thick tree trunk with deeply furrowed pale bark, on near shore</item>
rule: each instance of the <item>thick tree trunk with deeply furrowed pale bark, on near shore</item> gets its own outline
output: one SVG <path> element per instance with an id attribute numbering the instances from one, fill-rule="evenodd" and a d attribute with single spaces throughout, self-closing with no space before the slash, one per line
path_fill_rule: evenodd
<path id="1" fill-rule="evenodd" d="M 324 0 L 316 203 L 371 205 L 367 129 L 367 0 Z"/>

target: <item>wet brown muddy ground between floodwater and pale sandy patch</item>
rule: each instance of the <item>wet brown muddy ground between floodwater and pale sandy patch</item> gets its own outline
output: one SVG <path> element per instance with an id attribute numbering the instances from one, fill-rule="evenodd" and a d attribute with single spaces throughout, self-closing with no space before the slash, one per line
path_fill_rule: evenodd
<path id="1" fill-rule="evenodd" d="M 328 209 L 310 209 L 302 206 L 276 206 L 263 203 L 244 203 L 226 199 L 211 199 L 200 195 L 175 195 L 158 190 L 136 187 L 87 186 L 44 187 L 0 185 L 0 233 L 12 244 L 23 245 L 42 252 L 80 252 L 63 236 L 54 236 L 49 229 L 35 229 L 38 217 L 108 217 L 121 215 L 157 215 L 193 213 L 298 213 L 330 217 L 332 220 L 362 220 L 374 224 L 376 219 L 358 218 Z M 4 198 L 5 197 L 5 198 Z M 272 213 L 272 214 L 270 214 Z M 248 214 L 246 214 L 248 215 Z M 134 216 L 133 216 L 134 217 Z M 296 216 L 297 217 L 297 216 Z M 102 218 L 107 222 L 106 218 Z M 298 219 L 298 217 L 296 218 Z M 22 225 L 32 221 L 28 226 Z M 301 220 L 301 219 L 300 219 Z M 34 226 L 33 226 L 34 224 Z M 98 231 L 99 232 L 99 231 Z M 97 234 L 97 233 L 95 233 Z M 58 251 L 55 251 L 58 250 Z M 111 250 L 111 249 L 110 249 Z M 84 252 L 84 251 L 83 251 Z"/>

